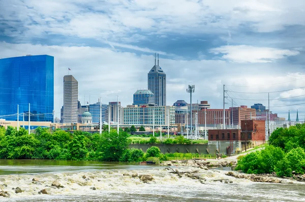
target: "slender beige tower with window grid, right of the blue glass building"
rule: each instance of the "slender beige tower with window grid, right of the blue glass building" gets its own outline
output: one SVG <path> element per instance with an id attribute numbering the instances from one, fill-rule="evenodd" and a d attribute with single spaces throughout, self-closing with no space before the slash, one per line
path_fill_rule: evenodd
<path id="1" fill-rule="evenodd" d="M 64 123 L 78 123 L 78 82 L 72 75 L 64 76 Z"/>

